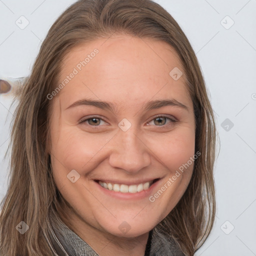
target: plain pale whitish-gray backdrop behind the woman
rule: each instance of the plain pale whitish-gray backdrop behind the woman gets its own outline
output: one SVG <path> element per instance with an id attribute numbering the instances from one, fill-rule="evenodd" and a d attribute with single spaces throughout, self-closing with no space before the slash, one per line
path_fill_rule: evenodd
<path id="1" fill-rule="evenodd" d="M 29 75 L 48 29 L 73 2 L 0 0 L 0 78 Z M 196 52 L 220 140 L 216 220 L 195 255 L 256 255 L 256 0 L 156 2 L 179 23 Z M 0 199 L 7 188 L 9 156 L 3 157 L 14 111 L 10 103 L 10 96 L 0 94 Z"/>

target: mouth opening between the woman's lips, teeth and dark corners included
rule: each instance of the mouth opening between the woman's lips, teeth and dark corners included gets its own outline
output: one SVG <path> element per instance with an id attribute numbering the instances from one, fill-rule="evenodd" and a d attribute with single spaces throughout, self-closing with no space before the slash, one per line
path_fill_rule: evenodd
<path id="1" fill-rule="evenodd" d="M 108 190 L 112 190 L 115 192 L 122 192 L 122 193 L 137 193 L 142 190 L 147 190 L 155 181 L 157 181 L 159 178 L 140 182 L 136 184 L 125 184 L 125 183 L 117 183 L 117 182 L 108 182 L 103 180 L 96 180 L 102 187 Z"/>

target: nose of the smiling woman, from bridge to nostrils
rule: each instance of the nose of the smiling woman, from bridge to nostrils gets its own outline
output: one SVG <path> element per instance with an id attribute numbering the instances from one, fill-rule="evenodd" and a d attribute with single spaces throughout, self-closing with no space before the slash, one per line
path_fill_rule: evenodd
<path id="1" fill-rule="evenodd" d="M 143 143 L 142 137 L 135 134 L 132 128 L 127 131 L 120 129 L 114 136 L 111 146 L 109 164 L 114 168 L 135 174 L 151 163 L 150 150 Z"/>

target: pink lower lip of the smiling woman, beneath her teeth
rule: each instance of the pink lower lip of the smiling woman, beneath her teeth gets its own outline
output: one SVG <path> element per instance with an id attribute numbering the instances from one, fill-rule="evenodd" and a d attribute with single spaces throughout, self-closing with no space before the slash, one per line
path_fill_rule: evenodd
<path id="1" fill-rule="evenodd" d="M 143 199 L 145 197 L 149 197 L 152 190 L 158 185 L 161 179 L 158 179 L 155 181 L 149 188 L 146 190 L 142 190 L 140 192 L 136 193 L 122 193 L 122 192 L 115 192 L 113 190 L 109 190 L 107 188 L 102 187 L 98 182 L 94 181 L 96 183 L 96 186 L 105 193 L 106 195 L 118 198 L 118 199 Z"/>

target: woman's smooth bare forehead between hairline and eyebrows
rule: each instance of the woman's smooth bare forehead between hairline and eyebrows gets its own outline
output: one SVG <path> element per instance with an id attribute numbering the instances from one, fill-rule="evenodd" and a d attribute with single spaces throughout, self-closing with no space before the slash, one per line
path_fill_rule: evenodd
<path id="1" fill-rule="evenodd" d="M 177 68 L 183 75 L 175 80 L 170 72 Z M 184 72 L 166 42 L 115 35 L 81 43 L 65 55 L 58 81 L 64 86 L 58 96 L 64 106 L 82 97 L 127 103 L 126 107 L 150 98 L 184 102 L 189 101 Z"/>

